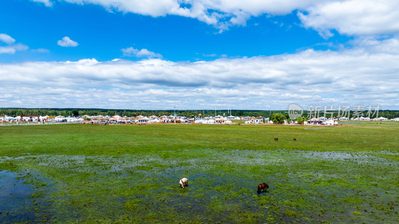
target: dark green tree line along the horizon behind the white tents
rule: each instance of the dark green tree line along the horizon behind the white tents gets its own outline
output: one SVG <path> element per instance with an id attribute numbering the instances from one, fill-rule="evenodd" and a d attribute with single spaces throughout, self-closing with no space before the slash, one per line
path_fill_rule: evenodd
<path id="1" fill-rule="evenodd" d="M 273 111 L 266 111 L 266 110 L 232 110 L 231 115 L 233 116 L 250 116 L 250 117 L 271 117 L 274 113 L 280 113 L 284 115 L 288 120 L 288 111 L 284 110 L 273 110 Z M 363 113 L 363 116 L 366 116 L 367 111 Z M 21 114 L 39 114 L 42 116 L 49 115 L 49 116 L 128 116 L 133 117 L 137 115 L 143 116 L 162 116 L 162 115 L 173 115 L 174 110 L 114 110 L 114 109 L 92 109 L 92 108 L 36 108 L 36 109 L 29 109 L 29 108 L 0 108 L 0 115 L 7 115 L 11 117 L 15 117 Z M 229 116 L 230 114 L 227 110 L 176 110 L 176 114 L 179 116 L 186 116 L 186 117 L 195 117 L 199 114 L 201 116 L 215 116 L 216 115 L 223 115 Z M 352 117 L 353 111 L 351 111 L 350 117 Z M 308 112 L 304 111 L 303 115 L 305 118 L 308 116 Z M 320 116 L 324 116 L 323 111 L 320 112 Z M 326 117 L 331 117 L 331 114 L 326 114 Z M 335 111 L 333 113 L 333 117 L 338 117 L 338 112 Z M 399 111 L 395 110 L 381 110 L 379 111 L 378 117 L 385 117 L 388 119 L 393 119 L 399 117 Z M 373 117 L 374 118 L 374 117 Z"/>

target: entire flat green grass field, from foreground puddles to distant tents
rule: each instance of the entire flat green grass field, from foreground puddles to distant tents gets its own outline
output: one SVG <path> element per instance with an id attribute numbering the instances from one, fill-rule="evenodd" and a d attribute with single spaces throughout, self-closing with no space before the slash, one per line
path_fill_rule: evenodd
<path id="1" fill-rule="evenodd" d="M 0 127 L 0 223 L 396 224 L 399 122 L 347 123 Z"/>

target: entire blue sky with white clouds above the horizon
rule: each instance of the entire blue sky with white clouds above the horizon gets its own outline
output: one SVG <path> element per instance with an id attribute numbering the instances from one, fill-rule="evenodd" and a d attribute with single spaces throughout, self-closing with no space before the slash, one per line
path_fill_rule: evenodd
<path id="1" fill-rule="evenodd" d="M 399 109 L 399 1 L 3 0 L 0 107 Z"/>

